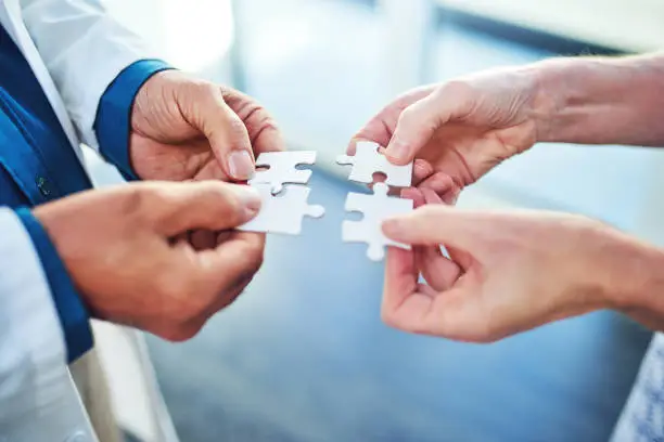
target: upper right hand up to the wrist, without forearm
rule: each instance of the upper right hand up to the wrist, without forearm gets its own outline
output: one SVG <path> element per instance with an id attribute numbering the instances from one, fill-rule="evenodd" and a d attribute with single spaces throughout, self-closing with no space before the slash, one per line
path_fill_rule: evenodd
<path id="1" fill-rule="evenodd" d="M 413 185 L 454 202 L 461 188 L 536 142 L 546 103 L 533 69 L 488 72 L 406 93 L 354 140 L 386 146 L 397 165 L 416 159 Z"/>

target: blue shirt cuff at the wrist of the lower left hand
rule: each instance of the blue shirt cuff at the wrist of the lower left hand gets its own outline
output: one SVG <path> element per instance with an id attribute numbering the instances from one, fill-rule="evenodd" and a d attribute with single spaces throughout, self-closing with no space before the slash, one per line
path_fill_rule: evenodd
<path id="1" fill-rule="evenodd" d="M 16 214 L 30 235 L 41 260 L 41 266 L 49 282 L 53 303 L 64 332 L 67 362 L 72 363 L 93 346 L 88 311 L 41 223 L 26 208 L 16 209 Z"/>

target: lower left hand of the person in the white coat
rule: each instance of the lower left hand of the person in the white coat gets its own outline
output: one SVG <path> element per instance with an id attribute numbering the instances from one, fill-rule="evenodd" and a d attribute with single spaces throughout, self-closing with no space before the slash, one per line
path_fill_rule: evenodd
<path id="1" fill-rule="evenodd" d="M 77 194 L 35 216 L 95 317 L 183 340 L 260 266 L 264 237 L 229 231 L 259 206 L 244 185 L 151 182 Z M 216 247 L 192 248 L 180 238 L 192 229 L 221 231 Z"/>

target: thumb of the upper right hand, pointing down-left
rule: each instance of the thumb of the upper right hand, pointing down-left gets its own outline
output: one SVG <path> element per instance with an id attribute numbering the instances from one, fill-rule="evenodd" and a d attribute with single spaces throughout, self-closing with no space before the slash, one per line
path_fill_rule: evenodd
<path id="1" fill-rule="evenodd" d="M 461 88 L 446 86 L 406 107 L 385 148 L 385 156 L 396 165 L 412 161 L 435 132 L 472 106 L 470 95 Z"/>

